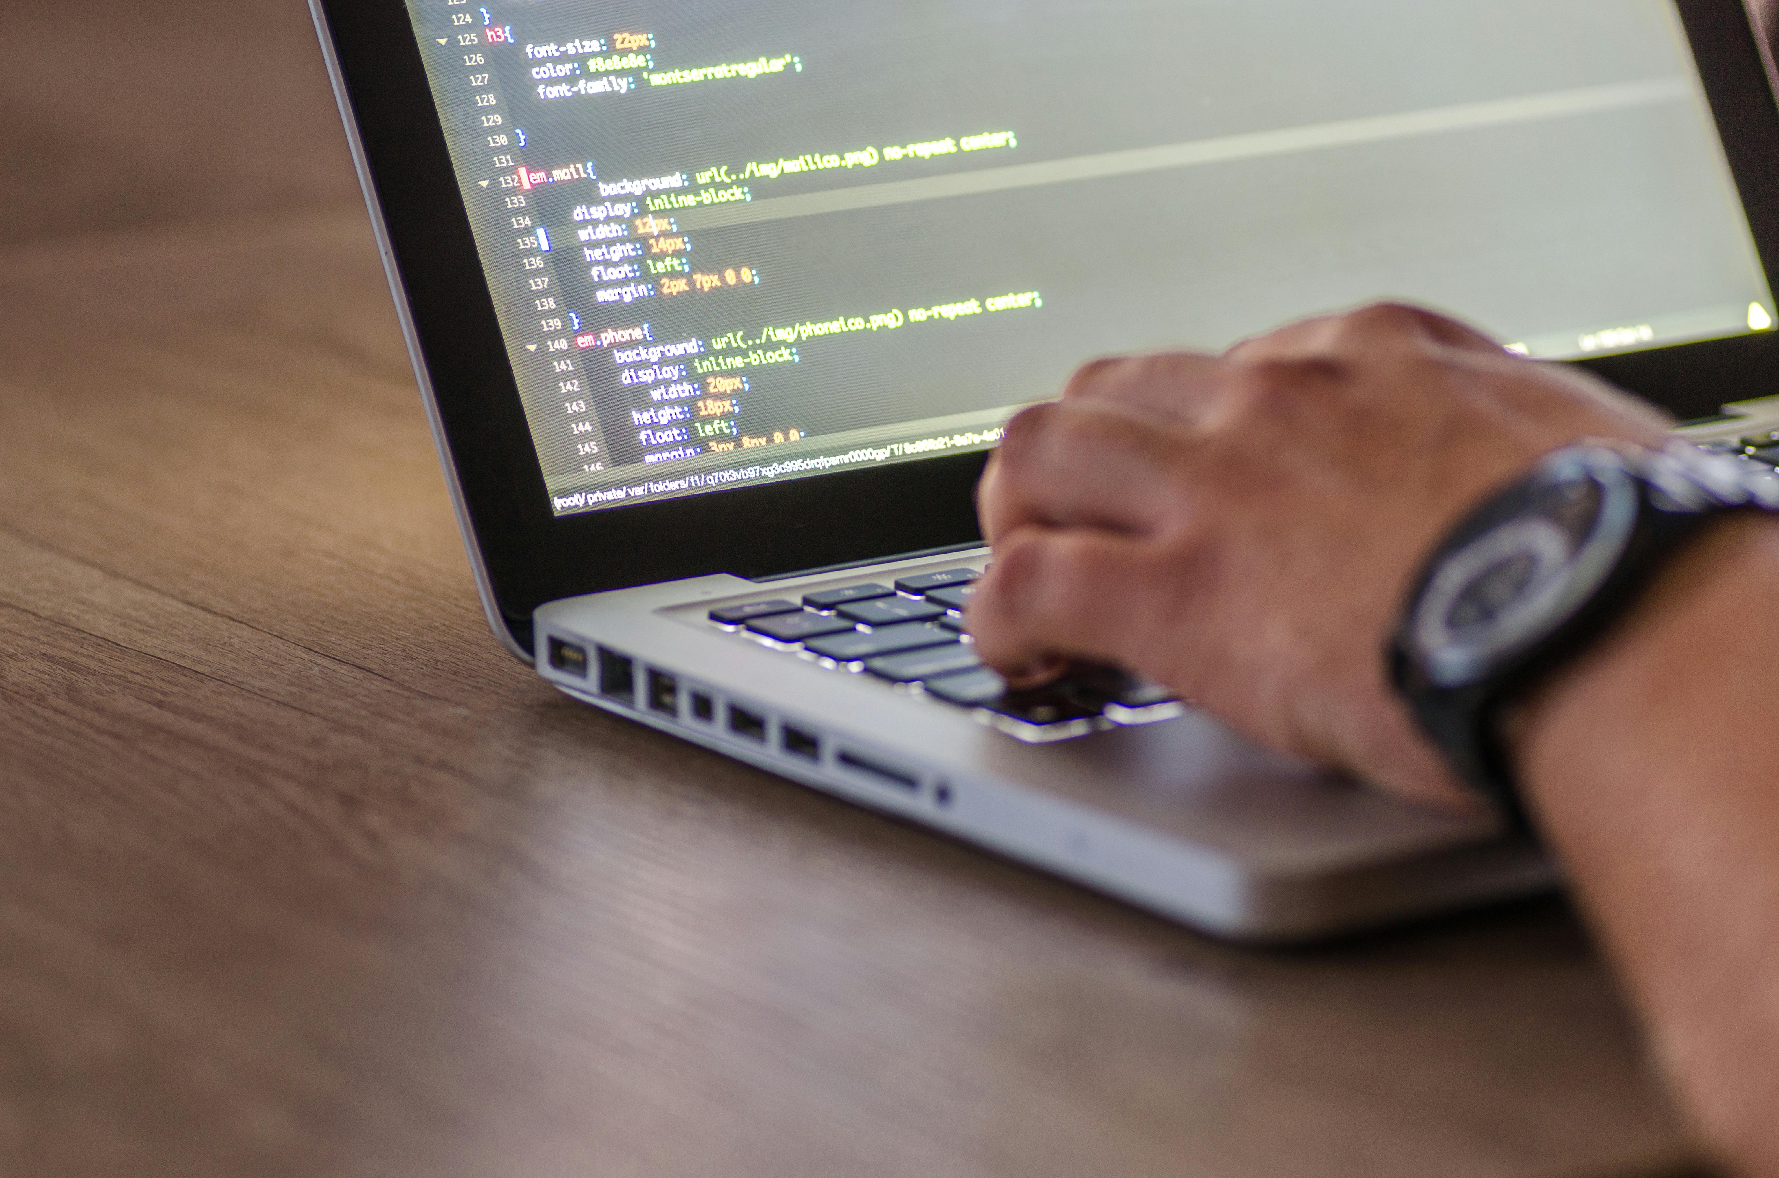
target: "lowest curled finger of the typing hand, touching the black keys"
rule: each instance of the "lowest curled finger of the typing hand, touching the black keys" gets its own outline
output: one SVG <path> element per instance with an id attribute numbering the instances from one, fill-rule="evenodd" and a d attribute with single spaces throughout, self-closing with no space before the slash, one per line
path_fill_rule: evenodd
<path id="1" fill-rule="evenodd" d="M 968 626 L 982 660 L 1016 682 L 1069 658 L 1130 666 L 1155 632 L 1142 598 L 1156 584 L 1137 539 L 1028 525 L 994 546 Z"/>

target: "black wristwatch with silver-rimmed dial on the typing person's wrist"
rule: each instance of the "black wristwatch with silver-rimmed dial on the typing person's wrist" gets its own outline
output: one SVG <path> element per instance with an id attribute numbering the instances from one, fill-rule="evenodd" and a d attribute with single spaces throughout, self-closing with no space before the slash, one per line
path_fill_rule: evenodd
<path id="1" fill-rule="evenodd" d="M 1676 441 L 1583 443 L 1491 495 L 1434 550 L 1389 678 L 1457 774 L 1532 833 L 1503 706 L 1594 644 L 1724 512 L 1779 511 L 1774 480 Z"/>

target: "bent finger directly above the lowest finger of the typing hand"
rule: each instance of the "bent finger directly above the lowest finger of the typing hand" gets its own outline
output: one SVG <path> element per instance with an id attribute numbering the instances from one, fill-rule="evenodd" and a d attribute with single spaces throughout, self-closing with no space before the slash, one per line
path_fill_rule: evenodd
<path id="1" fill-rule="evenodd" d="M 1098 402 L 1034 406 L 1007 424 L 978 484 L 993 543 L 1039 523 L 1142 534 L 1179 511 L 1172 473 L 1194 450 L 1178 429 Z"/>

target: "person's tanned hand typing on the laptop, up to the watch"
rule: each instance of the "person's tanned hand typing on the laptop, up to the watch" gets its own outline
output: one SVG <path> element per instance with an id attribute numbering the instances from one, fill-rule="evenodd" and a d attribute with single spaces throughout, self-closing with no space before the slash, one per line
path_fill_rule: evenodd
<path id="1" fill-rule="evenodd" d="M 989 461 L 970 630 L 1016 683 L 1114 662 L 1261 744 L 1468 808 L 1384 678 L 1411 577 L 1542 454 L 1663 431 L 1580 370 L 1404 306 L 1220 358 L 1103 359 Z"/>

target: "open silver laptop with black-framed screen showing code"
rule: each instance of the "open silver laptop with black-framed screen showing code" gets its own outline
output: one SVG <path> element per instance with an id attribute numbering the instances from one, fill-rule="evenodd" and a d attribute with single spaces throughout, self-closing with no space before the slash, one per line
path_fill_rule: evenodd
<path id="1" fill-rule="evenodd" d="M 1009 692 L 962 614 L 1012 413 L 1099 354 L 1393 297 L 1779 459 L 1779 110 L 1738 0 L 311 7 L 496 639 L 1217 936 L 1555 870 L 1119 669 Z"/>

